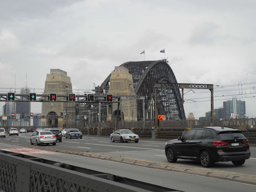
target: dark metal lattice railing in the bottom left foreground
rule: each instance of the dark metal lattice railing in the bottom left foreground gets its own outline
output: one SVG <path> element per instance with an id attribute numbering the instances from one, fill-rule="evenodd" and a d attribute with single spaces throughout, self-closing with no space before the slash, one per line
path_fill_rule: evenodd
<path id="1" fill-rule="evenodd" d="M 24 158 L 20 157 L 23 156 Z M 48 165 L 47 160 L 0 153 L 0 188 L 6 192 L 175 192 L 176 190 L 86 169 Z M 50 163 L 55 163 L 49 161 Z M 58 163 L 57 163 L 58 164 Z M 118 181 L 116 181 L 118 180 Z M 176 191 L 178 192 L 178 191 Z"/>

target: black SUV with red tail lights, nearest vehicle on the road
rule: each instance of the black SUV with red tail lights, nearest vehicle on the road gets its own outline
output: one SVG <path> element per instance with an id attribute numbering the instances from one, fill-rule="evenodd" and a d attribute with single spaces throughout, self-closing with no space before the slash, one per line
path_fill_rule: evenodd
<path id="1" fill-rule="evenodd" d="M 240 130 L 230 127 L 196 127 L 165 145 L 165 155 L 170 163 L 178 158 L 200 161 L 203 167 L 214 162 L 232 161 L 243 165 L 251 156 L 248 140 Z"/>

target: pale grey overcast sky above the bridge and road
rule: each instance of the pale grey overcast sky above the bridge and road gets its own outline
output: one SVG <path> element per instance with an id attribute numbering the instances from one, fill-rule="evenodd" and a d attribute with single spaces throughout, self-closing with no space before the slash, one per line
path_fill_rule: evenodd
<path id="1" fill-rule="evenodd" d="M 255 10 L 255 0 L 0 0 L 0 87 L 14 88 L 14 74 L 24 87 L 27 73 L 28 87 L 44 88 L 59 68 L 73 89 L 93 89 L 144 49 L 160 60 L 165 48 L 178 83 L 219 85 L 214 108 L 237 96 L 256 116 Z M 199 118 L 210 92 L 194 91 L 184 109 Z"/>

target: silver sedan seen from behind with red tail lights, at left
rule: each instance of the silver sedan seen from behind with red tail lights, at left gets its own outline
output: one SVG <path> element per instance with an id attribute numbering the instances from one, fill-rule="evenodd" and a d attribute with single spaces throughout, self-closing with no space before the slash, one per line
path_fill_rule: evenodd
<path id="1" fill-rule="evenodd" d="M 32 134 L 30 144 L 52 144 L 56 145 L 56 136 L 50 131 L 40 131 Z"/>

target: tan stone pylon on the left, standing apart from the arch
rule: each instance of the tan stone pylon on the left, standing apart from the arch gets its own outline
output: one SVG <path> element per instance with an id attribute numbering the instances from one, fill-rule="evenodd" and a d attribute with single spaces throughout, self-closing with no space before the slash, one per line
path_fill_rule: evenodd
<path id="1" fill-rule="evenodd" d="M 67 72 L 60 69 L 51 69 L 50 74 L 47 74 L 45 81 L 45 90 L 43 94 L 56 93 L 58 95 L 67 95 L 72 93 L 72 84 L 70 77 L 67 76 Z M 59 100 L 59 98 L 57 97 Z M 62 98 L 66 100 L 66 98 Z M 74 103 L 55 103 L 55 102 L 42 102 L 42 115 L 48 118 L 41 119 L 41 125 L 47 127 L 59 127 L 63 128 L 64 123 L 74 127 L 75 114 L 66 114 L 66 119 L 64 118 L 65 112 L 70 109 L 74 109 Z M 51 116 L 51 119 L 49 119 Z M 53 118 L 58 116 L 57 118 Z M 64 122 L 65 120 L 65 122 Z"/>

